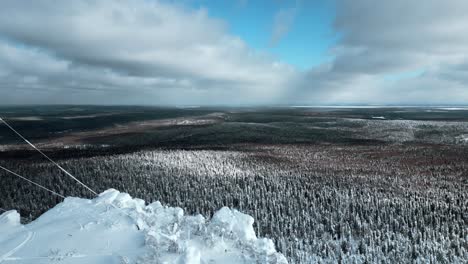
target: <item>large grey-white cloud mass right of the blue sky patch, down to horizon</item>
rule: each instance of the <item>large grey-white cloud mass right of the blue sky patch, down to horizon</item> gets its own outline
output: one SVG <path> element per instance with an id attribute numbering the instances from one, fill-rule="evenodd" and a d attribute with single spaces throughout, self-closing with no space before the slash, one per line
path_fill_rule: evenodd
<path id="1" fill-rule="evenodd" d="M 333 59 L 309 70 L 293 94 L 322 103 L 466 103 L 467 13 L 460 0 L 339 0 Z"/>

